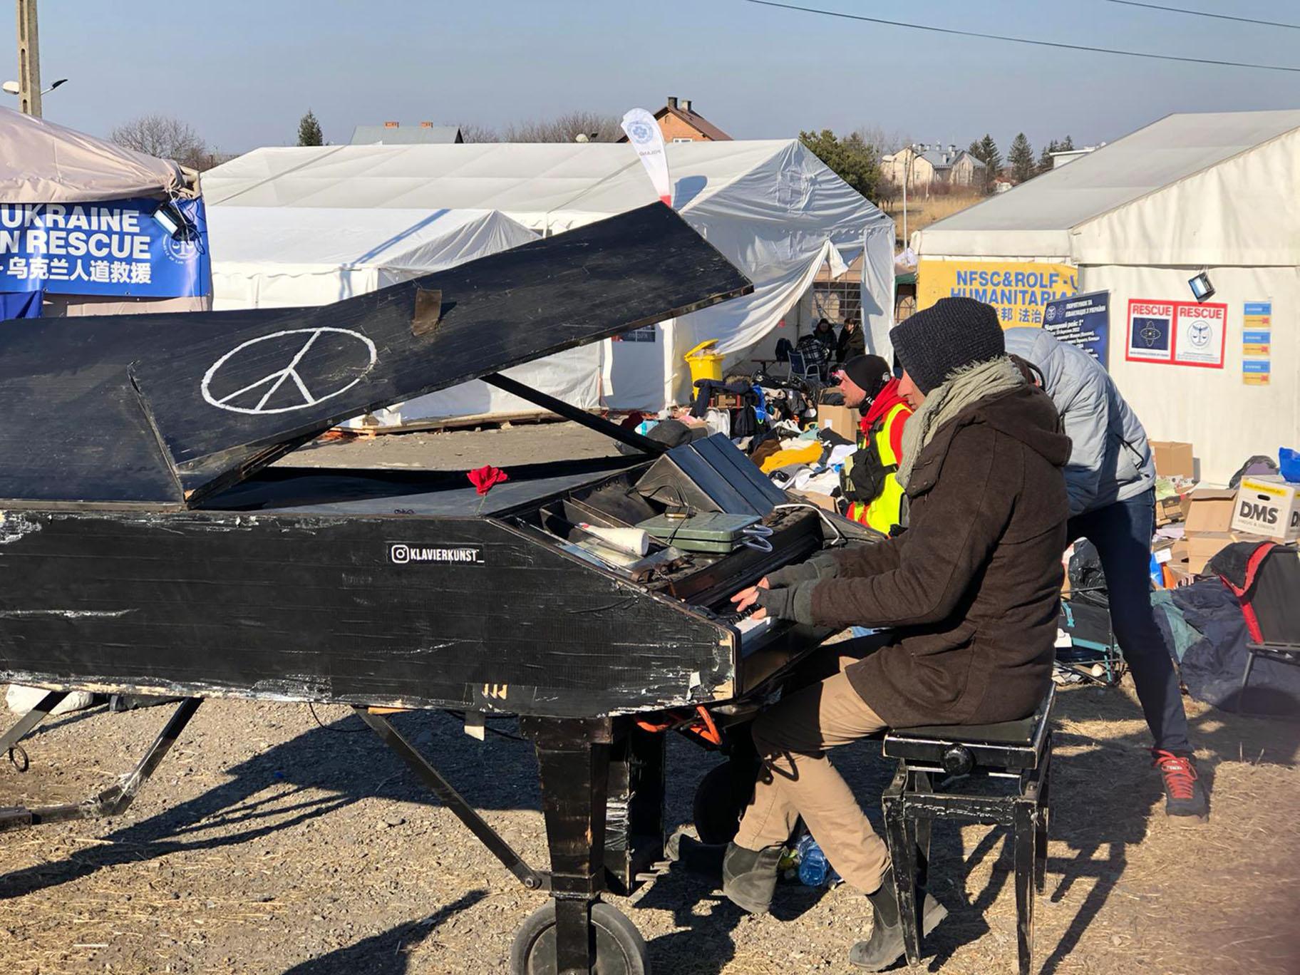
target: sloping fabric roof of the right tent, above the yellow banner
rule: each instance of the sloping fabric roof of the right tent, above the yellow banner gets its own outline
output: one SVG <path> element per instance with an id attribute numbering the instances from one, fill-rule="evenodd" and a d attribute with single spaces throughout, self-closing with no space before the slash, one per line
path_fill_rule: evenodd
<path id="1" fill-rule="evenodd" d="M 919 231 L 932 255 L 1070 257 L 1070 231 L 1300 129 L 1300 110 L 1182 113 Z M 991 235 L 1002 250 L 989 250 Z"/>

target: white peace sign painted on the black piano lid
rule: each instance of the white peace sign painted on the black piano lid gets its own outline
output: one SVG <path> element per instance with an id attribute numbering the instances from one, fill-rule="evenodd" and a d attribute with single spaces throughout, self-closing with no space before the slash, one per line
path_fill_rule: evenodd
<path id="1" fill-rule="evenodd" d="M 233 393 L 222 391 L 224 395 L 213 393 L 212 381 L 220 376 L 222 367 L 226 367 L 228 372 L 237 372 L 238 356 L 246 348 L 257 346 L 263 342 L 283 339 L 286 335 L 302 335 L 303 341 L 300 344 L 296 342 L 281 342 L 281 344 L 285 346 L 286 355 L 292 352 L 292 358 L 282 369 L 266 373 L 255 382 L 240 386 Z M 324 352 L 334 359 L 342 354 L 344 359 L 342 369 L 338 368 L 337 361 L 332 361 L 333 372 L 342 372 L 342 378 L 344 380 L 351 376 L 351 381 L 328 391 L 322 391 L 320 389 L 312 390 L 300 373 L 303 360 L 312 350 L 312 346 L 316 346 L 317 339 L 322 335 L 326 337 L 326 341 L 320 343 L 317 347 L 317 355 Z M 287 329 L 285 332 L 274 332 L 269 335 L 251 338 L 247 342 L 242 342 L 231 348 L 214 361 L 208 372 L 203 374 L 203 384 L 199 389 L 203 393 L 203 398 L 218 410 L 229 410 L 233 413 L 255 415 L 289 413 L 295 410 L 307 410 L 308 407 L 313 407 L 317 403 L 332 399 L 333 396 L 352 389 L 352 386 L 360 382 L 370 370 L 377 358 L 378 354 L 376 352 L 374 343 L 360 332 L 337 329 L 332 326 L 321 326 L 317 329 Z M 292 386 L 280 396 L 281 402 L 287 399 L 289 404 L 270 406 L 272 398 L 280 394 L 281 387 L 289 382 L 291 382 Z"/>

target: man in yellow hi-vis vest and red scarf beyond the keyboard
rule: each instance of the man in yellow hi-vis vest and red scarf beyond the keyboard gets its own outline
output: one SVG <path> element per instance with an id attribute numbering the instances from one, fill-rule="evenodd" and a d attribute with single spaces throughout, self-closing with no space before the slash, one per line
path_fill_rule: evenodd
<path id="1" fill-rule="evenodd" d="M 849 519 L 881 534 L 901 523 L 902 485 L 894 473 L 902 459 L 902 428 L 911 408 L 898 395 L 898 380 L 878 355 L 858 355 L 838 373 L 844 404 L 858 410 L 858 450 L 844 462 L 840 490 Z"/>

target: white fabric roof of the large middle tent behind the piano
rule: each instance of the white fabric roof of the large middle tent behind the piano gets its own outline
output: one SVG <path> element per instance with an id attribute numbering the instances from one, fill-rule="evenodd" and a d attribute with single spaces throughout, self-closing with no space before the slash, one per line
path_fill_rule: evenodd
<path id="1" fill-rule="evenodd" d="M 699 205 L 796 146 L 668 146 L 676 209 Z M 209 204 L 228 207 L 497 209 L 532 229 L 564 229 L 656 199 L 641 161 L 616 143 L 263 148 L 204 173 L 203 188 Z"/>

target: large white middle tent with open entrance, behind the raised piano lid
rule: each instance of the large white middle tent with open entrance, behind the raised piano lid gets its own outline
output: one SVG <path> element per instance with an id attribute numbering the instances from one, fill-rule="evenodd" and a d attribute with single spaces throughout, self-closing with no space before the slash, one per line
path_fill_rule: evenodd
<path id="1" fill-rule="evenodd" d="M 842 270 L 863 252 L 868 343 L 887 341 L 893 224 L 800 142 L 675 143 L 668 146 L 668 164 L 675 208 L 754 281 L 754 294 L 664 322 L 654 330 L 654 341 L 607 341 L 520 367 L 512 376 L 582 408 L 659 410 L 685 400 L 690 386 L 682 355 L 689 348 L 719 339 L 718 351 L 733 364 L 771 347 L 774 329 L 800 306 L 818 269 L 829 263 Z M 231 307 L 228 300 L 254 303 L 247 291 L 237 294 L 222 283 L 225 263 L 243 263 L 220 234 L 225 214 L 238 209 L 254 211 L 242 224 L 246 239 L 256 234 L 259 214 L 277 209 L 280 216 L 265 218 L 287 222 L 274 226 L 308 226 L 320 218 L 324 226 L 334 221 L 338 228 L 364 225 L 386 211 L 403 213 L 394 228 L 447 209 L 495 211 L 550 235 L 656 199 L 632 150 L 592 143 L 263 148 L 204 173 L 203 183 L 218 307 Z M 306 216 L 316 211 L 333 216 Z M 282 248 L 281 259 L 296 256 Z M 586 384 L 573 382 L 580 373 Z M 528 408 L 472 382 L 403 404 L 381 420 Z"/>

